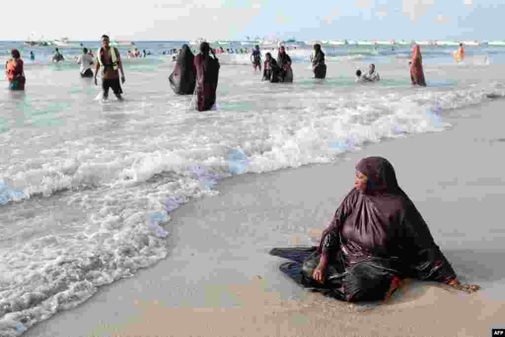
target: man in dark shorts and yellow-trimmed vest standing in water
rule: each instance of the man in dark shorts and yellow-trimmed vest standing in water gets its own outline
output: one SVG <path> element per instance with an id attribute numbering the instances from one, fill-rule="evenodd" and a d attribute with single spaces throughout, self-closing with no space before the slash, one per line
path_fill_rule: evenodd
<path id="1" fill-rule="evenodd" d="M 96 65 L 95 65 L 95 85 L 97 84 L 96 75 L 100 67 L 102 68 L 102 89 L 104 92 L 104 100 L 109 98 L 109 88 L 112 88 L 114 94 L 118 100 L 122 101 L 123 97 L 121 94 L 123 90 L 121 89 L 121 83 L 125 82 L 125 73 L 123 70 L 123 63 L 121 62 L 121 57 L 119 51 L 116 47 L 111 47 L 109 45 L 110 39 L 107 35 L 102 35 L 102 45 L 98 52 L 96 53 Z M 121 71 L 121 83 L 119 82 L 119 71 Z"/>

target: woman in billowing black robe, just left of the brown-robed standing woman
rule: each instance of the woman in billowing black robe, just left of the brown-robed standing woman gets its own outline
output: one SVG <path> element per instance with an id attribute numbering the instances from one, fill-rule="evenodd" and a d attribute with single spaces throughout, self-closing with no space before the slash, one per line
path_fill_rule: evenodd
<path id="1" fill-rule="evenodd" d="M 194 55 L 187 44 L 182 45 L 182 51 L 177 56 L 177 63 L 168 80 L 176 94 L 190 95 L 194 93 L 196 85 Z"/>

